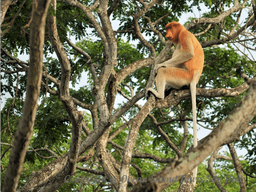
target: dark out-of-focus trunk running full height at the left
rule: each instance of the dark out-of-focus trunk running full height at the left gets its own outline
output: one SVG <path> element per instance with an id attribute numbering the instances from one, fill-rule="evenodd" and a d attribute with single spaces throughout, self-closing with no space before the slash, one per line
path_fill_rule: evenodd
<path id="1" fill-rule="evenodd" d="M 10 161 L 4 177 L 3 191 L 16 191 L 28 143 L 33 134 L 38 96 L 42 81 L 45 19 L 49 4 L 49 0 L 33 1 L 26 100 L 24 102 L 18 129 L 15 132 Z"/>

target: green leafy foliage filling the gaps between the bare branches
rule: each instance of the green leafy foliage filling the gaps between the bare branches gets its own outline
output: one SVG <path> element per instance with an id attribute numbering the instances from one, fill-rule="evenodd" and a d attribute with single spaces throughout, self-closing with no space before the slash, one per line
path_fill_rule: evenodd
<path id="1" fill-rule="evenodd" d="M 109 1 L 109 6 L 113 3 L 114 0 Z M 80 1 L 86 6 L 91 6 L 94 1 L 82 0 Z M 215 1 L 212 0 L 204 0 L 204 1 L 164 1 L 165 3 L 160 6 L 156 4 L 152 6 L 152 8 L 145 13 L 146 17 L 150 17 L 152 22 L 159 19 L 168 12 L 171 12 L 168 17 L 165 17 L 161 20 L 157 26 L 155 26 L 161 34 L 165 34 L 164 26 L 171 21 L 179 21 L 179 17 L 182 14 L 192 12 L 192 7 L 196 6 L 198 10 L 201 11 L 200 3 L 204 3 L 207 8 L 210 9 L 209 12 L 204 13 L 202 17 L 217 17 L 218 14 L 213 6 Z M 10 6 L 8 12 L 6 13 L 6 17 L 8 19 L 4 20 L 4 23 L 10 22 L 12 20 L 13 15 L 19 10 L 22 1 L 17 1 L 16 4 Z M 26 1 L 24 7 L 22 8 L 19 15 L 15 19 L 15 24 L 13 24 L 12 28 L 6 35 L 3 36 L 1 46 L 6 49 L 6 51 L 10 52 L 13 56 L 17 57 L 19 54 L 29 54 L 29 33 L 30 28 L 22 28 L 28 24 L 31 19 L 31 3 L 32 0 Z M 233 5 L 233 1 L 223 1 L 225 7 L 230 7 Z M 140 8 L 143 8 L 141 4 Z M 246 3 L 246 6 L 250 6 L 249 3 Z M 90 68 L 88 67 L 88 61 L 84 56 L 79 54 L 79 52 L 70 48 L 70 46 L 65 42 L 65 39 L 68 36 L 75 36 L 77 47 L 83 49 L 83 51 L 87 52 L 92 58 L 92 62 L 95 65 L 95 70 L 99 74 L 102 67 L 104 67 L 104 62 L 106 60 L 106 56 L 104 53 L 104 47 L 101 40 L 93 40 L 91 37 L 98 37 L 95 29 L 92 28 L 92 23 L 86 17 L 86 15 L 79 9 L 70 6 L 64 1 L 57 2 L 57 12 L 54 13 L 54 10 L 50 6 L 49 15 L 56 15 L 56 22 L 58 28 L 58 34 L 60 36 L 61 43 L 65 51 L 67 52 L 67 56 L 70 61 L 71 66 L 71 75 L 70 83 L 72 84 L 72 88 L 70 88 L 70 95 L 77 100 L 83 102 L 84 104 L 92 105 L 95 102 L 95 97 L 92 95 L 93 88 L 93 78 L 90 73 Z M 119 20 L 120 25 L 118 30 L 127 30 L 132 29 L 134 27 L 134 23 L 132 22 L 132 15 L 135 15 L 138 8 L 134 1 L 120 1 L 118 6 L 116 6 L 115 11 L 113 12 L 113 19 Z M 223 6 L 224 11 L 224 6 Z M 93 10 L 93 15 L 97 15 L 97 8 Z M 232 29 L 236 24 L 236 17 L 238 12 L 230 14 L 228 17 L 223 19 L 223 23 L 225 22 L 225 28 L 223 29 L 224 33 L 228 33 L 230 29 Z M 97 18 L 99 19 L 99 18 Z M 193 20 L 195 18 L 190 18 L 189 20 Z M 151 31 L 148 31 L 145 28 L 150 28 L 148 24 L 148 20 L 145 18 L 140 18 L 138 20 L 138 24 L 141 28 L 141 33 L 146 38 L 150 38 L 150 43 L 155 43 L 157 40 L 157 36 L 154 35 Z M 1 28 L 2 31 L 7 27 Z M 204 31 L 207 28 L 207 25 L 197 25 L 196 28 L 192 29 L 191 32 L 196 34 Z M 239 29 L 239 26 L 237 26 Z M 252 31 L 255 31 L 255 26 L 252 27 Z M 209 38 L 209 36 L 218 36 L 218 30 L 211 28 L 204 35 L 197 36 L 200 42 L 203 42 L 205 38 Z M 52 53 L 54 52 L 49 41 L 49 35 L 47 26 L 45 28 L 45 45 L 44 45 L 44 66 L 47 67 L 47 74 L 50 76 L 60 80 L 61 79 L 61 66 L 60 61 L 54 58 Z M 122 38 L 124 37 L 122 33 L 116 33 L 117 36 L 117 44 L 118 44 L 118 53 L 117 60 L 118 65 L 115 66 L 116 73 L 120 72 L 123 68 L 131 65 L 131 63 L 147 58 L 150 52 L 148 49 L 141 43 L 138 43 L 136 47 L 131 45 L 129 42 L 138 39 L 134 33 L 130 33 L 129 35 L 124 35 L 127 37 L 128 42 L 125 42 Z M 225 36 L 222 34 L 221 37 Z M 84 38 L 85 37 L 85 38 Z M 209 39 L 208 39 L 209 40 Z M 255 44 L 253 44 L 255 46 Z M 156 43 L 156 52 L 159 54 L 163 49 L 163 44 L 161 42 Z M 248 61 L 237 54 L 236 50 L 230 44 L 224 44 L 220 47 L 208 47 L 204 49 L 205 54 L 205 66 L 203 74 L 200 78 L 200 81 L 197 85 L 198 88 L 205 89 L 217 89 L 217 88 L 236 88 L 237 86 L 244 83 L 244 80 L 239 77 L 237 69 L 241 69 L 246 72 L 246 75 L 252 78 L 256 74 L 256 65 L 255 63 Z M 10 61 L 6 55 L 1 52 L 1 57 Z M 4 70 L 17 70 L 15 65 L 12 63 L 5 63 L 1 61 L 1 68 Z M 45 70 L 45 69 L 44 69 Z M 134 93 L 138 93 L 147 84 L 147 79 L 150 73 L 150 66 L 140 68 L 127 76 L 122 83 L 129 84 Z M 85 86 L 81 86 L 76 88 L 76 84 L 81 81 L 83 76 L 88 77 Z M 24 95 L 26 93 L 26 81 L 27 74 L 26 72 L 19 73 L 19 92 L 17 93 L 17 99 L 13 106 L 11 106 L 13 102 L 13 98 L 15 97 L 16 92 L 16 79 L 17 74 L 6 74 L 1 73 L 0 75 L 1 81 L 0 91 L 1 96 L 4 95 L 4 92 L 10 93 L 12 98 L 6 99 L 6 103 L 4 108 L 1 110 L 1 143 L 12 143 L 13 142 L 13 134 L 17 130 L 17 126 L 19 124 L 19 120 L 22 116 L 22 108 L 24 102 Z M 43 77 L 42 81 L 45 83 L 46 79 Z M 51 83 L 48 79 L 48 86 L 52 90 L 58 90 L 58 88 Z M 122 92 L 131 97 L 130 90 L 123 85 L 119 85 Z M 106 90 L 108 89 L 108 85 L 106 86 Z M 237 97 L 197 97 L 196 105 L 197 105 L 197 118 L 202 119 L 207 122 L 207 127 L 214 128 L 221 122 L 227 115 L 230 113 L 232 109 L 237 105 L 238 102 L 243 99 L 246 92 Z M 106 93 L 107 95 L 107 93 Z M 42 101 L 45 97 L 45 89 L 41 88 L 40 90 L 40 101 Z M 124 105 L 125 101 L 118 101 L 117 106 L 120 108 Z M 79 108 L 77 106 L 77 108 Z M 177 106 L 173 106 L 172 109 L 154 109 L 151 111 L 151 114 L 154 115 L 157 122 L 164 122 L 166 120 L 171 120 L 175 118 L 180 118 L 181 111 L 186 111 L 188 113 L 188 117 L 192 118 L 191 111 L 191 99 L 182 100 Z M 79 108 L 79 110 L 82 110 Z M 9 112 L 8 112 L 9 111 Z M 139 109 L 133 106 L 129 111 L 127 111 L 124 116 L 129 120 L 134 118 L 138 114 Z M 9 115 L 8 115 L 9 113 Z M 8 119 L 8 121 L 7 121 Z M 84 120 L 87 122 L 90 130 L 93 130 L 93 122 L 92 116 L 89 113 L 84 112 Z M 110 134 L 123 125 L 125 121 L 122 118 L 116 120 L 113 124 L 113 129 Z M 250 124 L 255 124 L 256 118 L 253 118 Z M 188 121 L 189 129 L 191 129 L 191 122 Z M 183 138 L 183 127 L 182 123 L 178 121 L 173 121 L 170 124 L 161 125 L 161 129 L 168 135 L 168 138 L 179 148 L 182 143 Z M 37 110 L 36 112 L 36 120 L 35 126 L 33 129 L 33 136 L 31 138 L 31 147 L 33 148 L 44 148 L 45 145 L 49 147 L 53 152 L 58 154 L 65 154 L 69 150 L 70 147 L 70 138 L 72 131 L 72 123 L 70 117 L 68 116 L 67 111 L 63 107 L 61 100 L 56 95 L 47 94 L 46 100 L 44 104 Z M 129 128 L 126 127 L 122 132 L 120 132 L 113 141 L 121 146 L 124 146 L 125 138 L 129 132 Z M 82 134 L 82 140 L 86 136 Z M 186 143 L 186 148 L 184 150 L 184 154 L 187 152 L 188 148 L 192 144 L 192 136 L 189 134 L 188 141 Z M 236 146 L 240 148 L 246 148 L 248 150 L 248 155 L 245 157 L 239 157 L 241 160 L 242 166 L 246 172 L 251 175 L 255 175 L 256 172 L 256 141 L 255 141 L 255 131 L 250 131 L 248 134 L 244 135 L 240 141 L 236 143 Z M 113 147 L 108 143 L 107 148 L 111 155 L 115 157 L 118 162 L 121 162 L 121 153 L 122 150 Z M 58 151 L 57 151 L 57 150 Z M 10 157 L 10 147 L 8 145 L 1 145 L 1 155 L 4 154 L 3 159 L 1 159 L 1 184 L 3 183 L 4 173 L 6 172 L 6 168 L 8 165 L 8 159 Z M 28 150 L 31 150 L 29 147 Z M 175 152 L 170 150 L 170 146 L 164 141 L 163 137 L 157 131 L 155 125 L 152 123 L 149 117 L 145 118 L 143 124 L 140 127 L 140 131 L 138 133 L 138 138 L 136 140 L 136 145 L 134 148 L 134 152 L 136 153 L 148 153 L 154 156 L 158 156 L 160 158 L 173 158 L 175 157 Z M 85 154 L 87 154 L 86 152 Z M 52 156 L 49 152 L 40 151 L 38 152 L 40 156 L 49 157 Z M 228 153 L 225 156 L 229 156 Z M 102 170 L 102 166 L 100 166 L 99 161 L 95 161 L 97 159 L 97 154 L 95 150 L 95 154 L 93 154 L 93 163 L 92 161 L 86 161 L 83 163 L 78 163 L 79 166 L 90 167 L 99 171 Z M 43 168 L 46 164 L 49 164 L 54 159 L 45 159 L 37 156 L 34 152 L 28 152 L 26 154 L 26 159 L 23 164 L 22 173 L 20 175 L 19 189 L 28 182 L 29 177 L 32 172 L 37 172 L 41 168 Z M 164 163 L 156 163 L 152 159 L 136 159 L 132 158 L 132 164 L 140 167 L 142 177 L 150 177 L 152 174 L 158 172 L 163 169 L 167 164 Z M 207 182 L 209 172 L 205 168 L 207 168 L 207 161 L 204 161 L 198 167 L 198 177 L 202 178 L 204 182 L 201 186 L 199 182 L 197 186 L 199 186 L 195 191 L 218 191 L 214 182 Z M 227 175 L 236 176 L 236 172 L 234 170 L 234 165 L 232 161 L 224 161 L 218 159 L 214 161 L 214 172 L 218 175 L 218 177 L 226 178 Z M 138 172 L 134 167 L 131 167 L 130 173 L 134 177 L 138 177 Z M 77 170 L 76 175 L 74 177 L 92 177 L 92 173 L 83 172 Z M 244 176 L 245 177 L 245 176 Z M 255 179 L 247 177 L 248 186 L 253 191 L 256 189 Z M 224 185 L 224 183 L 222 183 Z M 97 183 L 84 184 L 83 190 L 85 191 L 93 191 L 98 186 Z M 0 186 L 1 187 L 1 186 Z M 73 191 L 74 189 L 79 189 L 79 184 L 74 184 L 74 182 L 65 183 L 58 191 Z M 166 189 L 167 191 L 177 191 L 179 188 L 179 182 L 175 182 L 170 188 Z M 103 189 L 99 187 L 98 189 Z M 225 185 L 225 189 L 228 191 L 237 191 L 239 189 L 238 183 L 227 183 Z M 113 191 L 113 190 L 109 190 Z"/>

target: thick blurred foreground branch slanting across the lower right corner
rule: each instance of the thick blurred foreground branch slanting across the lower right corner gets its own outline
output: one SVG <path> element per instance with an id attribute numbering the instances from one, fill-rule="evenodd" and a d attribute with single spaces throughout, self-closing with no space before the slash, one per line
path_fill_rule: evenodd
<path id="1" fill-rule="evenodd" d="M 225 138 L 229 137 L 232 132 L 244 121 L 246 116 L 251 115 L 256 107 L 256 81 L 250 84 L 250 90 L 245 95 L 244 99 L 237 104 L 236 108 L 220 122 L 218 126 L 205 138 L 198 147 L 194 148 L 186 154 L 186 156 L 181 157 L 176 163 L 172 163 L 161 172 L 156 174 L 156 177 L 176 177 L 181 178 L 181 175 L 186 175 L 188 172 L 193 170 L 200 162 L 211 154 L 218 146 L 223 143 Z M 172 185 L 173 182 L 156 182 L 156 180 L 149 179 L 147 183 L 136 184 L 132 188 L 134 191 L 162 191 L 168 186 Z"/>

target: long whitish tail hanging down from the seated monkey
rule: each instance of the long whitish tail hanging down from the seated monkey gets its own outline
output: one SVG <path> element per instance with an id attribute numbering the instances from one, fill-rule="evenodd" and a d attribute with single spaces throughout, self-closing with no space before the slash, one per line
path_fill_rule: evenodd
<path id="1" fill-rule="evenodd" d="M 190 92 L 192 98 L 192 111 L 193 111 L 193 138 L 194 138 L 194 148 L 197 146 L 197 130 L 196 130 L 196 81 L 190 83 Z M 197 166 L 193 170 L 193 186 L 196 185 L 196 175 L 197 175 Z M 195 179 L 195 180 L 194 180 Z"/>

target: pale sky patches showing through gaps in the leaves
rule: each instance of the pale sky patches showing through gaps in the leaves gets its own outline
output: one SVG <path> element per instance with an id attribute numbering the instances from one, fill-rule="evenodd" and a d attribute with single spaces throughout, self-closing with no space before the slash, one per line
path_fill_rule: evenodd
<path id="1" fill-rule="evenodd" d="M 196 17 L 196 18 L 199 18 L 199 17 L 202 17 L 202 13 L 206 12 L 207 11 L 207 7 L 204 6 L 204 4 L 200 4 L 200 8 L 202 9 L 202 12 L 200 13 L 199 10 L 197 10 L 196 7 L 193 8 L 193 13 L 186 13 L 186 14 L 183 14 L 181 17 L 180 17 L 180 24 L 184 24 L 186 21 L 188 21 L 189 17 Z M 241 20 L 240 20 L 240 23 L 242 23 L 245 19 L 245 16 L 246 14 L 243 15 L 242 13 L 242 17 L 241 17 Z M 120 22 L 118 20 L 113 20 L 112 19 L 112 25 L 113 25 L 113 29 L 114 30 L 117 30 L 119 28 L 119 25 L 120 25 Z M 88 31 L 88 33 L 90 33 L 90 31 Z M 92 39 L 96 39 L 96 38 L 93 38 L 93 36 L 91 36 L 90 38 Z M 147 36 L 144 36 L 144 38 L 147 40 Z M 76 39 L 74 36 L 70 36 L 70 40 L 73 42 L 73 43 L 76 43 Z M 125 42 L 127 42 L 127 39 L 123 37 L 123 40 Z M 138 40 L 137 41 L 133 41 L 133 42 L 130 42 L 130 44 L 134 44 L 136 45 L 138 43 Z M 52 55 L 54 58 L 57 58 L 56 54 Z M 23 55 L 20 55 L 18 56 L 19 60 L 22 60 L 22 61 L 26 61 L 26 60 L 29 60 L 29 55 L 26 55 L 26 54 L 23 54 Z M 72 87 L 72 84 L 70 83 L 70 88 L 74 88 L 75 90 L 79 90 L 79 88 L 81 86 L 86 86 L 88 85 L 87 84 L 87 74 L 85 72 L 82 73 L 82 78 L 81 78 L 81 81 L 79 82 L 79 84 L 76 84 L 75 87 Z M 4 79 L 1 79 L 1 81 L 3 81 L 4 83 Z M 49 96 L 49 93 L 48 93 L 48 96 Z M 4 106 L 4 103 L 5 103 L 5 100 L 6 98 L 10 98 L 10 94 L 9 93 L 6 93 L 2 98 L 1 98 L 1 110 Z M 116 102 L 115 103 L 115 108 L 118 108 L 118 103 L 121 103 L 123 101 L 127 102 L 126 99 L 124 99 L 124 97 L 122 97 L 120 94 L 117 94 L 116 95 Z M 146 100 L 139 100 L 138 101 L 138 104 L 140 104 L 141 106 L 143 106 L 145 104 Z M 39 101 L 40 103 L 40 101 Z M 84 109 L 81 109 L 79 108 L 79 110 L 84 110 Z M 204 125 L 204 124 L 203 124 Z M 193 134 L 193 129 L 189 129 L 189 132 L 191 134 Z M 211 133 L 211 130 L 209 129 L 205 129 L 203 127 L 201 127 L 200 125 L 198 125 L 198 140 L 201 140 L 202 138 L 204 138 L 205 136 L 207 136 L 209 133 Z M 228 147 L 225 146 L 221 149 L 221 151 L 223 150 L 227 150 L 228 151 Z M 240 150 L 239 148 L 236 148 L 236 151 L 237 151 L 237 155 L 238 156 L 244 156 L 245 154 L 247 154 L 247 150 L 243 149 L 243 150 Z"/>

